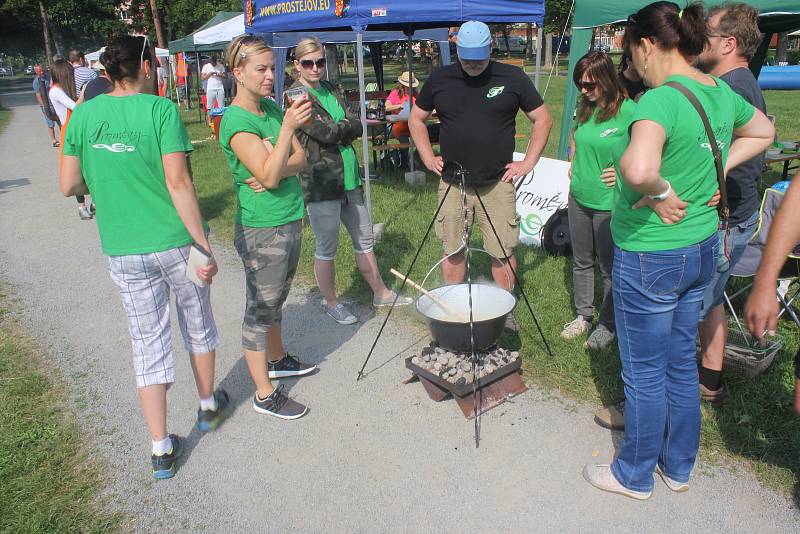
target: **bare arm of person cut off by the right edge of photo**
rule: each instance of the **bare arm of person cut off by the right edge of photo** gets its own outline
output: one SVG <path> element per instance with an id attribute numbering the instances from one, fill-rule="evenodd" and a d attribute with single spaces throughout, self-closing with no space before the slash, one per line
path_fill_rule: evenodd
<path id="1" fill-rule="evenodd" d="M 800 172 L 794 175 L 775 218 L 767 246 L 761 255 L 753 289 L 747 298 L 744 317 L 753 337 L 765 346 L 764 336 L 775 336 L 778 327 L 778 299 L 775 286 L 786 257 L 800 244 Z M 800 415 L 800 350 L 794 357 L 794 411 Z"/>

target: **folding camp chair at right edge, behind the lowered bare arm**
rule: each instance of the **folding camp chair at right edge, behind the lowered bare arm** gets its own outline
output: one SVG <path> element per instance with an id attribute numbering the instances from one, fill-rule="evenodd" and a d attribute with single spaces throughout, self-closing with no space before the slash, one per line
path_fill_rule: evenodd
<path id="1" fill-rule="evenodd" d="M 753 234 L 750 243 L 747 244 L 747 248 L 745 248 L 741 259 L 733 267 L 733 272 L 731 273 L 732 277 L 752 279 L 755 276 L 758 265 L 761 263 L 761 256 L 764 253 L 764 248 L 767 245 L 767 234 L 769 233 L 772 219 L 778 211 L 778 206 L 780 206 L 788 186 L 788 181 L 778 182 L 764 191 L 764 197 L 761 200 L 761 208 L 759 210 L 758 228 Z M 745 291 L 748 291 L 752 285 L 753 283 L 751 281 L 731 295 L 729 295 L 727 291 L 724 293 L 725 304 L 736 322 L 739 332 L 743 336 L 745 330 L 741 320 L 736 315 L 731 300 Z M 786 259 L 786 263 L 778 276 L 778 286 L 775 289 L 775 294 L 781 307 L 778 317 L 781 317 L 785 313 L 791 317 L 797 326 L 800 326 L 800 319 L 797 316 L 797 309 L 794 304 L 798 299 L 798 295 L 800 295 L 800 243 L 795 246 L 794 250 L 792 250 L 789 257 Z"/>

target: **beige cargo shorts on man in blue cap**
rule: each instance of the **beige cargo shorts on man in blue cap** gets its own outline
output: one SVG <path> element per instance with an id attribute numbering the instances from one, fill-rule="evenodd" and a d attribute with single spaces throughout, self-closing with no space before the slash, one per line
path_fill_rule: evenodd
<path id="1" fill-rule="evenodd" d="M 442 201 L 448 184 L 439 182 L 439 202 Z M 489 220 L 486 218 L 475 189 L 483 200 L 497 231 L 498 242 Z M 469 229 L 475 219 L 483 237 L 483 248 L 496 259 L 503 259 L 505 255 L 512 256 L 514 248 L 519 243 L 519 214 L 517 213 L 517 193 L 514 184 L 510 182 L 497 182 L 492 185 L 473 187 L 467 186 L 466 195 L 467 222 Z M 461 205 L 461 191 L 453 185 L 447 194 L 447 199 L 436 217 L 436 235 L 441 239 L 445 255 L 452 254 L 462 247 L 464 234 L 464 213 Z M 505 254 L 503 254 L 505 251 Z"/>

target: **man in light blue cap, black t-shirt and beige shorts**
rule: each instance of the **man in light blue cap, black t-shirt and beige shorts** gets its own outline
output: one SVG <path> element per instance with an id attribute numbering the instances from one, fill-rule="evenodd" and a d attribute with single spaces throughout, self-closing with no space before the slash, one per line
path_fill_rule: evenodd
<path id="1" fill-rule="evenodd" d="M 470 21 L 462 25 L 456 46 L 458 62 L 431 73 L 414 101 L 408 127 L 420 158 L 429 170 L 441 176 L 447 161 L 458 163 L 467 171 L 468 223 L 472 224 L 473 216 L 477 218 L 484 248 L 493 256 L 492 277 L 499 286 L 512 291 L 514 276 L 508 267 L 516 271 L 514 247 L 519 242 L 515 185 L 539 161 L 553 119 L 522 69 L 489 59 L 492 39 L 486 24 Z M 520 109 L 533 124 L 532 139 L 525 158 L 513 161 L 516 117 Z M 441 122 L 440 156 L 433 153 L 425 127 L 425 121 L 434 110 Z M 439 184 L 440 202 L 447 187 L 444 181 Z M 486 206 L 486 213 L 476 192 Z M 461 195 L 451 191 L 436 220 L 436 235 L 442 240 L 445 255 L 462 247 L 463 231 Z M 463 282 L 465 270 L 463 250 L 442 263 L 447 284 Z M 517 330 L 510 314 L 506 327 Z"/>

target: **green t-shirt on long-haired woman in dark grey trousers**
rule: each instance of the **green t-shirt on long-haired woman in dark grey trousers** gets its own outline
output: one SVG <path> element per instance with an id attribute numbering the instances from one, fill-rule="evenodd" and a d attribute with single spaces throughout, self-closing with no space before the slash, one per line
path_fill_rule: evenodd
<path id="1" fill-rule="evenodd" d="M 614 166 L 612 150 L 627 137 L 636 103 L 625 99 L 614 117 L 597 122 L 597 111 L 575 129 L 575 158 L 569 193 L 587 208 L 610 211 L 614 207 L 614 188 L 600 180 L 603 169 Z"/>

